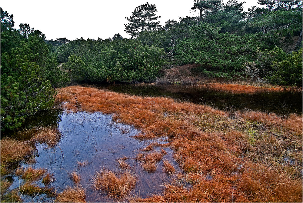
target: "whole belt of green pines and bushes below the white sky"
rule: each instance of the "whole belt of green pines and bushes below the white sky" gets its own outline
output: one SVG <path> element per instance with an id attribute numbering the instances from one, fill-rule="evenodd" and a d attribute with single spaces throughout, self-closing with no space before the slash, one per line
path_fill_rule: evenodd
<path id="1" fill-rule="evenodd" d="M 302 85 L 302 2 L 195 1 L 196 17 L 162 27 L 155 5 L 125 17 L 125 32 L 108 39 L 48 40 L 26 23 L 14 28 L 1 8 L 1 130 L 52 106 L 57 87 L 71 82 L 152 82 L 165 64 L 200 64 L 201 74 Z M 63 63 L 62 67 L 58 65 Z"/>

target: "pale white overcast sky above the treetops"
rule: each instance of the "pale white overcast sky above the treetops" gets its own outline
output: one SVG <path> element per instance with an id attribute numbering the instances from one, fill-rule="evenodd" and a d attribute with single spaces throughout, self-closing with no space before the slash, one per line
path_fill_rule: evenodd
<path id="1" fill-rule="evenodd" d="M 124 32 L 125 16 L 132 15 L 138 5 L 147 0 L 115 0 L 115 1 L 41 1 L 41 0 L 10 0 L 2 1 L 1 8 L 14 15 L 15 28 L 20 23 L 28 23 L 31 28 L 39 29 L 47 39 L 66 37 L 67 39 L 112 38 L 120 33 L 124 38 L 131 36 Z M 226 2 L 226 1 L 224 1 Z M 242 2 L 242 1 L 240 1 Z M 169 18 L 179 20 L 179 16 L 198 16 L 193 13 L 193 1 L 149 0 L 155 4 L 161 18 L 161 25 Z M 257 5 L 256 0 L 247 0 L 244 10 L 251 5 Z"/>

